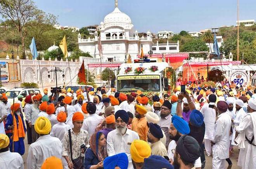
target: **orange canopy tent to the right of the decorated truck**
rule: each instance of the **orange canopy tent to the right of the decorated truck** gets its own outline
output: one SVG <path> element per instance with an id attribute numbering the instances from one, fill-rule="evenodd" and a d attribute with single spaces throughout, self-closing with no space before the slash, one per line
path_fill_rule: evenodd
<path id="1" fill-rule="evenodd" d="M 188 83 L 189 81 L 193 82 L 198 80 L 198 73 L 200 73 L 200 79 L 203 76 L 204 79 L 207 78 L 207 66 L 208 71 L 211 70 L 211 66 L 221 66 L 229 64 L 240 64 L 241 61 L 224 61 L 224 60 L 209 60 L 206 62 L 187 62 L 183 64 L 182 79 L 183 84 Z"/>

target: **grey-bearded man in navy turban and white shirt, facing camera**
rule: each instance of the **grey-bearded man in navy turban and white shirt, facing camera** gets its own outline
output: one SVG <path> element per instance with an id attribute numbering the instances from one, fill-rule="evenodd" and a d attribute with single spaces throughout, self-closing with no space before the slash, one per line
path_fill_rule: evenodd
<path id="1" fill-rule="evenodd" d="M 115 113 L 116 130 L 112 130 L 107 135 L 107 154 L 109 156 L 125 152 L 128 156 L 128 169 L 133 169 L 131 162 L 130 145 L 133 140 L 139 140 L 138 134 L 126 127 L 129 116 L 125 110 L 118 110 Z"/>

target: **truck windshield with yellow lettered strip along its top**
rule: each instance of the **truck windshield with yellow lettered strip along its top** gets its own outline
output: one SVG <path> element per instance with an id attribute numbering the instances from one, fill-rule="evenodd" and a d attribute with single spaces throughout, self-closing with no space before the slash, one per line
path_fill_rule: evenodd
<path id="1" fill-rule="evenodd" d="M 118 91 L 160 91 L 159 75 L 118 76 Z"/>

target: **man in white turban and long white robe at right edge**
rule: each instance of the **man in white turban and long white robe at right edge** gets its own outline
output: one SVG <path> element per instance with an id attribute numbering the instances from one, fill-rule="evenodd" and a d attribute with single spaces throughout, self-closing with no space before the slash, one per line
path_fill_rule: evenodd
<path id="1" fill-rule="evenodd" d="M 235 139 L 240 149 L 237 166 L 242 169 L 256 168 L 256 99 L 250 98 L 248 113 L 235 130 L 239 133 Z"/>

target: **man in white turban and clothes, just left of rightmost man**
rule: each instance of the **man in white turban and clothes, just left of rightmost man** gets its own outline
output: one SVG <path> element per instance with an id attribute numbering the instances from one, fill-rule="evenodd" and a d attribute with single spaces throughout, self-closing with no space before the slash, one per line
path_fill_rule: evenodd
<path id="1" fill-rule="evenodd" d="M 240 122 L 242 121 L 242 119 L 246 115 L 246 112 L 244 112 L 243 106 L 244 106 L 244 102 L 241 99 L 237 99 L 235 101 L 236 112 L 235 112 L 235 118 L 234 118 L 234 120 L 232 120 L 232 122 L 234 122 L 235 127 L 239 126 Z M 234 140 L 235 140 L 235 127 L 233 128 L 231 145 L 237 145 L 234 142 Z"/>

